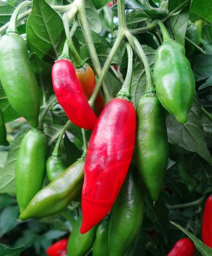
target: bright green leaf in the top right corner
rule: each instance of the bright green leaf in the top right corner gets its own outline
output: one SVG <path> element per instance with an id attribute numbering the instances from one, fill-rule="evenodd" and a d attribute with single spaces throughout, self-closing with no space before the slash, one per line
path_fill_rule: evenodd
<path id="1" fill-rule="evenodd" d="M 190 7 L 190 16 L 202 17 L 205 21 L 212 23 L 212 1 L 208 0 L 193 0 Z"/>

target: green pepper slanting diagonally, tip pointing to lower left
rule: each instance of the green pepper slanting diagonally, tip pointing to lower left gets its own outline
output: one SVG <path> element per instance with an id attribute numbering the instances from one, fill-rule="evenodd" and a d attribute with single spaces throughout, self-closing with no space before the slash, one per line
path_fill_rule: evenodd
<path id="1" fill-rule="evenodd" d="M 25 220 L 30 217 L 46 217 L 65 209 L 81 192 L 83 168 L 84 160 L 80 158 L 56 180 L 36 193 L 19 218 Z"/>

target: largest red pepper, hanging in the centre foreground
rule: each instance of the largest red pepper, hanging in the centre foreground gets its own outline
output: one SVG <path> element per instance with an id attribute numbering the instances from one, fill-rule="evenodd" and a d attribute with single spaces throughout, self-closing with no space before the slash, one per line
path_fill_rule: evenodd
<path id="1" fill-rule="evenodd" d="M 114 98 L 99 116 L 87 149 L 81 233 L 89 231 L 111 211 L 131 164 L 135 135 L 133 104 Z"/>

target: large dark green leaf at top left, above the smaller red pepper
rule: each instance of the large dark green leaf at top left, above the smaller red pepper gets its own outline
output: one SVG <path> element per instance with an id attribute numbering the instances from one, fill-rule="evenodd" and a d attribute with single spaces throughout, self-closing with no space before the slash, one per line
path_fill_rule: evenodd
<path id="1" fill-rule="evenodd" d="M 33 0 L 32 11 L 26 24 L 26 41 L 30 53 L 53 63 L 62 52 L 65 32 L 62 19 L 43 0 Z"/>

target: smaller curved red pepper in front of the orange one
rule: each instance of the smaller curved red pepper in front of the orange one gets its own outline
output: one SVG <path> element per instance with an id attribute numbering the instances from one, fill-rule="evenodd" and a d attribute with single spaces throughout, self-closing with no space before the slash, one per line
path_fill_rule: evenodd
<path id="1" fill-rule="evenodd" d="M 68 118 L 81 128 L 93 130 L 97 122 L 89 106 L 73 64 L 67 59 L 56 61 L 52 66 L 52 84 L 58 102 Z"/>

